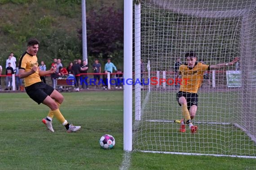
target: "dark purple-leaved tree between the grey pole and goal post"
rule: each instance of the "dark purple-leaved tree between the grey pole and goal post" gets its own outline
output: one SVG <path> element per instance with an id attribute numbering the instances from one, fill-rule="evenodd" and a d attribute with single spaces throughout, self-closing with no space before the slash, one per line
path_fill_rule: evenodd
<path id="1" fill-rule="evenodd" d="M 124 12 L 112 7 L 89 11 L 86 16 L 88 55 L 123 58 Z M 82 38 L 82 30 L 78 30 Z M 118 56 L 117 56 L 118 55 Z"/>

